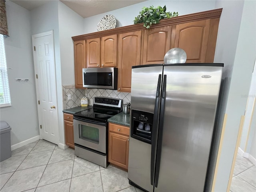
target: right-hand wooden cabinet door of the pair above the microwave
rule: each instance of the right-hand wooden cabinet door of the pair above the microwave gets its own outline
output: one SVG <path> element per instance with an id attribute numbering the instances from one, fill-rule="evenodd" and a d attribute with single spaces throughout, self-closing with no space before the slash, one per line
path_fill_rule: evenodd
<path id="1" fill-rule="evenodd" d="M 102 67 L 116 67 L 117 35 L 101 38 L 100 57 Z"/>

